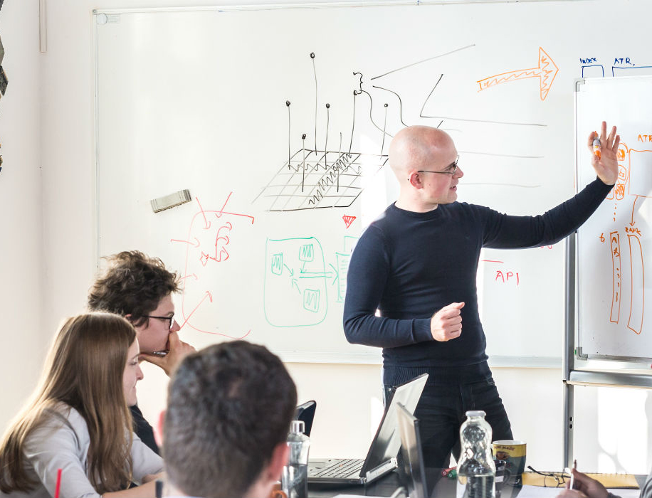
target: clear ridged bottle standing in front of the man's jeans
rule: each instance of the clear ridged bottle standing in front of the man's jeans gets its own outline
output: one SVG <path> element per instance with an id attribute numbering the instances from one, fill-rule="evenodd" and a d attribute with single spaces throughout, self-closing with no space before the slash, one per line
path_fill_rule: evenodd
<path id="1" fill-rule="evenodd" d="M 491 426 L 482 410 L 466 412 L 460 428 L 458 498 L 495 498 L 496 467 L 491 455 Z"/>

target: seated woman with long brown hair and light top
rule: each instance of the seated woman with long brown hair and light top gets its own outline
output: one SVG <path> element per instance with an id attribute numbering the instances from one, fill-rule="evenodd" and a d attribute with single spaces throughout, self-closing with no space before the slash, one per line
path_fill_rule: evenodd
<path id="1" fill-rule="evenodd" d="M 154 497 L 163 461 L 133 435 L 129 403 L 142 378 L 136 332 L 126 319 L 68 319 L 41 382 L 0 443 L 0 496 Z M 147 483 L 128 489 L 132 482 Z"/>

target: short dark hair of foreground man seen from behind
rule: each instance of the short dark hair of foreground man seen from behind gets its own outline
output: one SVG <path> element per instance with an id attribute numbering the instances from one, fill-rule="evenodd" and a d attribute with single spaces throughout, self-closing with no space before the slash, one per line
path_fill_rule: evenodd
<path id="1" fill-rule="evenodd" d="M 168 388 L 163 455 L 194 497 L 242 497 L 288 436 L 297 391 L 278 356 L 247 341 L 186 356 Z"/>

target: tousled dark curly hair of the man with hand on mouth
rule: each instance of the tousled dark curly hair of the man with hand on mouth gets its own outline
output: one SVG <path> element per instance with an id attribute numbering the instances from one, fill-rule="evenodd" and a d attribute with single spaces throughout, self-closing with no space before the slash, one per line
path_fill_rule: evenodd
<path id="1" fill-rule="evenodd" d="M 88 309 L 130 314 L 136 327 L 147 322 L 147 315 L 159 302 L 179 290 L 179 277 L 169 272 L 159 258 L 140 251 L 123 251 L 108 258 L 106 270 L 88 292 Z"/>

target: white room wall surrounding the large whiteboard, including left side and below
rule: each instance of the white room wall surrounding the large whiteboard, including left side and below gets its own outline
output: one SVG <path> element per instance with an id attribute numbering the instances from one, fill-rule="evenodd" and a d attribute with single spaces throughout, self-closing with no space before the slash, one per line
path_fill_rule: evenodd
<path id="1" fill-rule="evenodd" d="M 0 172 L 3 426 L 33 388 L 56 325 L 65 315 L 83 309 L 93 279 L 91 12 L 96 7 L 135 6 L 132 0 L 105 0 L 100 5 L 90 0 L 48 0 L 48 53 L 40 55 L 38 2 L 5 3 L 0 11 L 0 34 L 7 51 L 4 66 L 9 75 L 9 93 L 0 101 L 5 160 Z M 210 2 L 143 0 L 138 6 L 202 4 Z M 312 454 L 364 454 L 382 406 L 379 366 L 288 366 L 300 399 L 315 398 L 318 403 Z M 562 460 L 561 372 L 501 368 L 494 373 L 515 437 L 528 443 L 528 462 L 535 468 L 558 469 Z M 164 405 L 166 379 L 153 368 L 146 368 L 145 376 L 140 402 L 153 420 Z M 352 385 L 354 389 L 342 388 Z M 647 391 L 586 389 L 576 403 L 580 468 L 648 472 L 651 452 L 641 443 L 649 433 Z M 623 419 L 627 423 L 618 425 Z M 623 425 L 627 430 L 615 429 Z M 624 457 L 628 453 L 634 457 Z"/>

